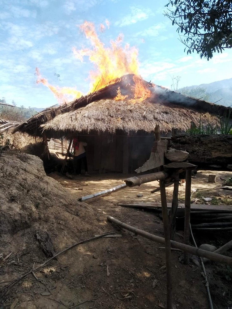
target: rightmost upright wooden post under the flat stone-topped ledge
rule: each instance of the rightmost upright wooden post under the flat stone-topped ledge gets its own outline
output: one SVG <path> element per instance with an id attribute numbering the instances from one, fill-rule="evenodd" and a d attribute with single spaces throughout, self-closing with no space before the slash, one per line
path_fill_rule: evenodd
<path id="1" fill-rule="evenodd" d="M 191 180 L 192 171 L 187 169 L 186 171 L 186 184 L 185 184 L 185 216 L 184 216 L 184 243 L 189 243 L 190 234 L 190 211 L 191 211 Z M 189 255 L 184 252 L 184 264 L 189 264 Z"/>

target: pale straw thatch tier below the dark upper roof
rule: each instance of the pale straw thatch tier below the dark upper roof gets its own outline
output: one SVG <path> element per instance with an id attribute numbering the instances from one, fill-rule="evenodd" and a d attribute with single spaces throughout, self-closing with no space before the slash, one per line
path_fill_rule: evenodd
<path id="1" fill-rule="evenodd" d="M 179 130 L 190 128 L 191 121 L 197 123 L 200 113 L 170 103 L 115 101 L 102 99 L 86 107 L 60 114 L 42 125 L 47 136 L 62 136 L 76 132 L 108 132 L 122 130 L 126 134 L 145 131 L 151 133 L 156 125 L 162 132 L 173 127 Z M 212 121 L 212 116 L 205 115 Z"/>

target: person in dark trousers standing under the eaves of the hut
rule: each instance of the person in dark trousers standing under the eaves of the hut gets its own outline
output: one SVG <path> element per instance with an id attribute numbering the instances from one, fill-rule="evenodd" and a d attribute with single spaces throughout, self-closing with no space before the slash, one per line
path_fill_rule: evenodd
<path id="1" fill-rule="evenodd" d="M 86 142 L 79 142 L 78 138 L 73 139 L 73 149 L 74 149 L 74 158 L 73 158 L 73 165 L 74 165 L 74 172 L 77 175 L 81 175 L 81 164 L 84 163 L 85 169 L 85 176 L 90 176 L 88 174 L 88 164 L 86 158 L 86 151 L 84 147 L 87 146 Z"/>

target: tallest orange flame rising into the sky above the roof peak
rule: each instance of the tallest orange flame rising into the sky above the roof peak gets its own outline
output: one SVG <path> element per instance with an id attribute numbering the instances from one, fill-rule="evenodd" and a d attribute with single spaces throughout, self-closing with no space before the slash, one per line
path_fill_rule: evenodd
<path id="1" fill-rule="evenodd" d="M 120 34 L 115 41 L 110 41 L 111 47 L 104 47 L 99 40 L 93 23 L 85 21 L 80 29 L 92 43 L 93 49 L 77 50 L 73 48 L 75 57 L 83 60 L 88 56 L 95 64 L 96 70 L 90 72 L 90 92 L 101 89 L 110 84 L 113 79 L 125 74 L 138 74 L 138 51 L 126 44 L 122 47 L 123 35 Z"/>

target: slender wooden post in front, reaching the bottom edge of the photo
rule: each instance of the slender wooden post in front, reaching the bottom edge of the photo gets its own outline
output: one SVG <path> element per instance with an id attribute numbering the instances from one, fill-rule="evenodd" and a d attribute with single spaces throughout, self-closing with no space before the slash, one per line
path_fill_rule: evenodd
<path id="1" fill-rule="evenodd" d="M 166 199 L 166 190 L 163 180 L 160 180 L 160 197 L 162 206 L 162 216 L 164 224 L 165 238 L 165 257 L 166 257 L 166 287 L 167 287 L 167 309 L 172 309 L 172 273 L 171 273 L 171 242 L 170 229 L 168 222 L 168 208 Z"/>

